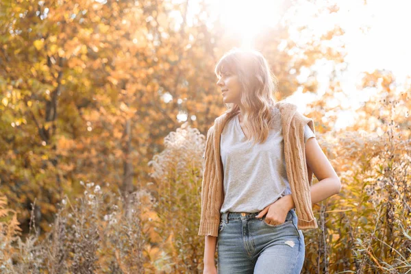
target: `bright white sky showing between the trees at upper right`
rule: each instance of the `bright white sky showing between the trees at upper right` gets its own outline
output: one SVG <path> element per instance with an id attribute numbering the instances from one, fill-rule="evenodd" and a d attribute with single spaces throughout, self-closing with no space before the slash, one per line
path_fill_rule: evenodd
<path id="1" fill-rule="evenodd" d="M 397 83 L 401 85 L 406 75 L 411 75 L 411 40 L 409 39 L 408 26 L 411 26 L 411 1 L 400 0 L 345 0 L 338 1 L 340 10 L 337 13 L 325 16 L 312 16 L 321 3 L 336 3 L 336 1 L 316 1 L 316 6 L 309 1 L 301 1 L 303 14 L 292 18 L 293 23 L 308 24 L 312 33 L 321 34 L 333 24 L 340 25 L 345 34 L 342 37 L 345 43 L 348 63 L 347 71 L 341 75 L 343 91 L 347 100 L 341 101 L 342 105 L 349 105 L 352 110 L 360 107 L 372 95 L 373 90 L 357 89 L 362 72 L 386 69 L 393 71 Z M 253 36 L 256 29 L 273 26 L 279 23 L 277 14 L 281 9 L 282 1 L 241 1 L 219 0 L 210 1 L 215 16 L 221 14 L 225 28 L 242 37 L 242 47 L 252 47 Z M 251 4 L 252 3 L 252 4 Z M 192 7 L 195 5 L 192 5 Z M 303 40 L 303 34 L 293 34 Z M 288 97 L 287 101 L 296 103 L 299 110 L 306 110 L 306 103 L 321 98 L 327 87 L 329 66 L 327 63 L 319 64 L 321 83 L 318 93 L 310 95 L 301 94 L 298 90 Z M 353 122 L 353 112 L 338 114 L 335 129 L 340 129 Z"/>

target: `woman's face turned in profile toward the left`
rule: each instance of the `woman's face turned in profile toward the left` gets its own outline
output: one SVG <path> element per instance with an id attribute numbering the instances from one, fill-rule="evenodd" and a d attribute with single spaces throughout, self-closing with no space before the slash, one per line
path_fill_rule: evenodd
<path id="1" fill-rule="evenodd" d="M 217 86 L 222 92 L 224 103 L 240 103 L 241 86 L 237 75 L 221 72 Z"/>

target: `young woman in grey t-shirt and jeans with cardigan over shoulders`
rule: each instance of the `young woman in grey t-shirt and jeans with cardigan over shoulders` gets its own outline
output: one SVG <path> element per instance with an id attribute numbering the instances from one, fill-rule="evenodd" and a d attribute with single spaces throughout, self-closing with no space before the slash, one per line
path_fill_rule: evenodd
<path id="1" fill-rule="evenodd" d="M 227 111 L 210 127 L 203 156 L 203 273 L 300 273 L 301 229 L 318 227 L 312 203 L 340 192 L 340 179 L 312 119 L 275 101 L 277 80 L 260 52 L 234 48 L 215 73 Z"/>

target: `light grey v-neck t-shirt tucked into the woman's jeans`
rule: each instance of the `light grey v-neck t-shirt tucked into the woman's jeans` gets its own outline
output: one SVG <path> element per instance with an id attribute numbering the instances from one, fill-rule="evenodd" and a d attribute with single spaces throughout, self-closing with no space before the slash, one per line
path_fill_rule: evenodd
<path id="1" fill-rule="evenodd" d="M 273 108 L 275 122 L 264 144 L 245 140 L 238 115 L 221 132 L 220 151 L 224 173 L 224 202 L 220 212 L 260 212 L 291 194 L 286 173 L 281 115 Z M 314 137 L 308 125 L 304 140 Z"/>

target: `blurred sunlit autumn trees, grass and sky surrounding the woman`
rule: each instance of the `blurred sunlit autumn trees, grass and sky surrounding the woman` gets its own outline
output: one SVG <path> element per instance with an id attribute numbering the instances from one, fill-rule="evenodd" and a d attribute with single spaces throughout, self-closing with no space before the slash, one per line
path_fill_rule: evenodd
<path id="1" fill-rule="evenodd" d="M 202 273 L 201 155 L 225 110 L 214 66 L 243 47 L 314 120 L 343 184 L 313 206 L 303 273 L 410 273 L 410 10 L 2 0 L 1 271 Z"/>

